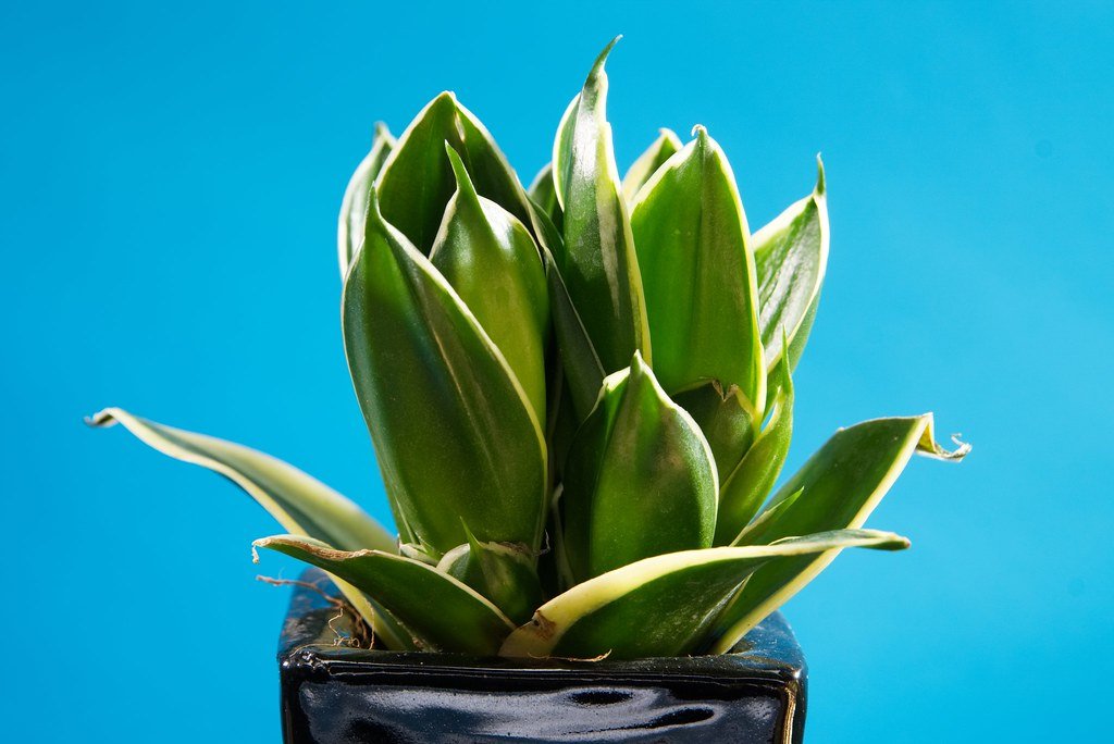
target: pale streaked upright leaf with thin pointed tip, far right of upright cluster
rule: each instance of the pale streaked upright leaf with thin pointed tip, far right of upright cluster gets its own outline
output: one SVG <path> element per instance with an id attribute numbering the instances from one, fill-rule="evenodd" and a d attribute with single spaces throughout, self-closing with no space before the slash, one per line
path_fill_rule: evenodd
<path id="1" fill-rule="evenodd" d="M 766 369 L 782 355 L 781 334 L 789 339 L 790 366 L 795 368 L 808 341 L 820 287 L 828 266 L 828 199 L 824 166 L 817 156 L 817 187 L 754 234 L 759 276 L 759 325 Z"/>

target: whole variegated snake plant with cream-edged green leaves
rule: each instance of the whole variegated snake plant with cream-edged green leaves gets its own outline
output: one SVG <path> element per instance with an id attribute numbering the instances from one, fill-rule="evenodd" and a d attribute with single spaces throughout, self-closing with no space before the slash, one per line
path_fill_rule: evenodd
<path id="1" fill-rule="evenodd" d="M 342 324 L 398 537 L 295 468 L 119 409 L 243 488 L 381 647 L 724 653 L 843 548 L 931 414 L 841 429 L 775 491 L 829 225 L 812 192 L 752 233 L 720 145 L 662 130 L 626 176 L 605 60 L 529 188 L 457 98 L 377 128 L 339 221 Z M 771 496 L 772 492 L 772 496 Z"/>

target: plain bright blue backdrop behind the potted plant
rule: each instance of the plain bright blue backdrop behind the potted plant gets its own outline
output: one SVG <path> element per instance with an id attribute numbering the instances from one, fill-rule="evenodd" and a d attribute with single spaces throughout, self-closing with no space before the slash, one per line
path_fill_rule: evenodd
<path id="1" fill-rule="evenodd" d="M 791 464 L 885 414 L 932 410 L 975 444 L 915 460 L 876 512 L 911 551 L 844 555 L 788 607 L 810 741 L 1095 741 L 1108 3 L 312 4 L 0 10 L 6 741 L 277 740 L 287 590 L 248 554 L 274 527 L 81 415 L 253 444 L 385 518 L 339 334 L 349 173 L 375 119 L 398 134 L 449 88 L 529 179 L 615 32 L 620 168 L 656 127 L 704 124 L 756 228 L 824 154 L 831 264 Z"/>

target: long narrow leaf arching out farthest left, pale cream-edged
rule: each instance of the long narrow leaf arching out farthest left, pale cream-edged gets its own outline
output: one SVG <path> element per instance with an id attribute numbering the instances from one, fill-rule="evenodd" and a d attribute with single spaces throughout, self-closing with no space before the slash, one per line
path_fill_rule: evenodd
<path id="1" fill-rule="evenodd" d="M 395 549 L 394 538 L 360 507 L 270 454 L 223 439 L 166 427 L 118 408 L 107 408 L 87 422 L 92 427 L 119 423 L 144 444 L 163 454 L 224 476 L 291 532 L 328 540 L 348 550 Z M 332 578 L 388 646 L 410 646 L 404 633 L 378 613 L 363 595 L 336 577 Z"/>

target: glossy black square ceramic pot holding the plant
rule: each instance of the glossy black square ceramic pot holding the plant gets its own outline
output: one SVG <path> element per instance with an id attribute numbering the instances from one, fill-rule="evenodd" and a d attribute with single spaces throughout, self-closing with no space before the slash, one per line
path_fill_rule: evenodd
<path id="1" fill-rule="evenodd" d="M 594 663 L 338 646 L 352 626 L 336 615 L 295 589 L 278 649 L 290 744 L 803 738 L 804 657 L 780 614 L 731 654 Z"/>

